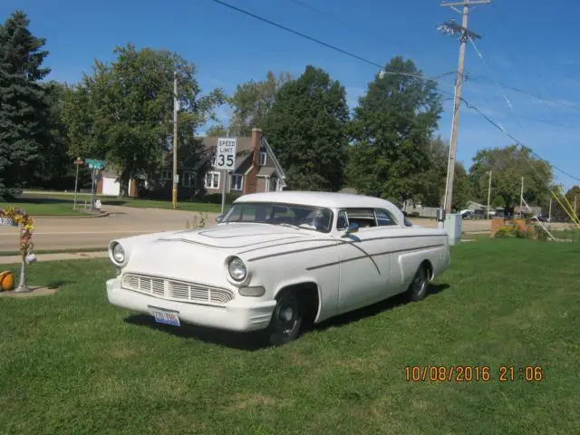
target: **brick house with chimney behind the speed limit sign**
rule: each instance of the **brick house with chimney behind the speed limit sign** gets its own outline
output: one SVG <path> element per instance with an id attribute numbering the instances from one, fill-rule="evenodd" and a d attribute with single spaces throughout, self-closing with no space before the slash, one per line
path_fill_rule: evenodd
<path id="1" fill-rule="evenodd" d="M 194 156 L 189 150 L 178 151 L 179 198 L 222 192 L 225 173 L 212 169 L 218 138 L 203 137 L 198 140 L 201 141 L 204 157 Z M 226 193 L 246 195 L 285 188 L 284 169 L 260 129 L 253 129 L 251 137 L 237 138 L 236 153 L 236 169 L 227 174 Z M 172 175 L 172 156 L 168 156 L 160 179 L 155 183 L 164 197 L 170 198 Z"/>

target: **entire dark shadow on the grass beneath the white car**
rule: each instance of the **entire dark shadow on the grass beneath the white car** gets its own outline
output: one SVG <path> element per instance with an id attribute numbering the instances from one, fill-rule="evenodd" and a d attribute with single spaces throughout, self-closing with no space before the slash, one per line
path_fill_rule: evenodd
<path id="1" fill-rule="evenodd" d="M 448 284 L 430 285 L 427 297 L 429 297 L 430 295 L 436 295 L 447 288 L 449 288 Z M 407 303 L 408 302 L 405 299 L 404 295 L 393 296 L 377 304 L 365 306 L 350 313 L 337 315 L 336 317 L 325 320 L 321 324 L 307 327 L 304 330 L 304 333 L 308 333 L 312 330 L 324 331 L 330 328 L 331 326 L 343 326 L 346 324 L 357 322 L 366 317 L 381 314 L 383 311 L 391 310 L 392 308 Z M 152 316 L 147 314 L 131 315 L 125 318 L 125 322 L 128 324 L 149 327 L 151 329 L 161 331 L 164 333 L 170 333 L 180 338 L 199 340 L 205 343 L 218 344 L 221 346 L 231 347 L 234 349 L 244 351 L 254 352 L 268 347 L 266 343 L 266 334 L 263 331 L 256 331 L 252 333 L 237 333 L 233 331 L 226 331 L 216 328 L 207 328 L 204 326 L 192 324 L 181 324 L 181 326 L 171 326 L 169 324 L 158 324 L 155 322 Z"/>

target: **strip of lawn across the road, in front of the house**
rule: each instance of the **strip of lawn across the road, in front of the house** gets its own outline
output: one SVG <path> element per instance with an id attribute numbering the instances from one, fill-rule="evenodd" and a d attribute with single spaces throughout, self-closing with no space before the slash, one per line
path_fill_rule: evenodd
<path id="1" fill-rule="evenodd" d="M 155 199 L 140 199 L 140 198 L 116 198 L 97 196 L 101 199 L 103 206 L 124 206 L 134 208 L 171 208 L 171 201 L 155 200 Z M 25 208 L 30 214 L 36 216 L 48 215 L 65 215 L 65 214 L 79 214 L 78 211 L 73 210 L 74 196 L 67 194 L 24 194 L 18 198 L 22 201 L 21 207 Z M 83 207 L 85 203 L 90 204 L 91 195 L 79 194 L 77 195 L 77 207 Z M 2 204 L 0 204 L 2 207 Z M 29 208 L 31 211 L 29 211 Z M 178 201 L 179 210 L 199 211 L 203 213 L 219 213 L 221 211 L 221 204 L 208 204 L 190 201 Z M 34 213 L 33 213 L 34 210 Z M 67 213 L 68 211 L 68 213 Z"/>

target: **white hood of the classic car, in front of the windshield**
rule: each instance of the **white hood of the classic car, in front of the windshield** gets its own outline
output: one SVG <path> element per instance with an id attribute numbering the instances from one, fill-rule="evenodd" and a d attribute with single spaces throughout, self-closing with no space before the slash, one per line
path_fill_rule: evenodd
<path id="1" fill-rule="evenodd" d="M 314 231 L 268 224 L 222 224 L 217 227 L 178 231 L 163 235 L 158 242 L 176 242 L 227 249 L 271 246 L 275 242 L 313 238 Z"/>

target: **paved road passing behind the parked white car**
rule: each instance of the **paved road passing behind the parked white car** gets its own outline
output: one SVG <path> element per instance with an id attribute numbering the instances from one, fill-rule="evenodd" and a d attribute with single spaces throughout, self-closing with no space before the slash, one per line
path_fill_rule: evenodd
<path id="1" fill-rule="evenodd" d="M 157 231 L 185 229 L 187 221 L 195 216 L 191 211 L 161 208 L 130 208 L 105 206 L 111 213 L 107 218 L 35 218 L 34 248 L 45 249 L 106 249 L 111 239 Z M 215 225 L 215 213 L 208 214 L 208 225 Z M 423 227 L 437 227 L 433 219 L 411 219 Z M 556 227 L 552 225 L 552 227 Z M 485 220 L 464 220 L 465 232 L 489 231 Z M 0 251 L 15 251 L 18 234 L 14 227 L 0 227 Z"/>

